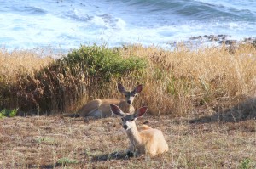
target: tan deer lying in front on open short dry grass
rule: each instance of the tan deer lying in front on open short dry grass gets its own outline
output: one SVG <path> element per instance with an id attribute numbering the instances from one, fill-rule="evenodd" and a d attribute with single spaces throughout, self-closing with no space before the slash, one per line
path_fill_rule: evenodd
<path id="1" fill-rule="evenodd" d="M 130 139 L 127 155 L 149 155 L 154 157 L 168 151 L 168 144 L 160 130 L 147 125 L 143 125 L 139 129 L 136 126 L 137 117 L 142 116 L 148 110 L 148 107 L 142 107 L 131 115 L 125 114 L 117 105 L 110 104 L 110 108 L 114 114 L 121 116 L 123 127 Z"/>

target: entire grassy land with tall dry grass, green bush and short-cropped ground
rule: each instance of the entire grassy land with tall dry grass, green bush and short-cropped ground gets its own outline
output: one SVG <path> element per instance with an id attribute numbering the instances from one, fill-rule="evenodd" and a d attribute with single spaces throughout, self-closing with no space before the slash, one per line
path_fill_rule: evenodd
<path id="1" fill-rule="evenodd" d="M 164 132 L 165 155 L 126 158 L 129 142 L 117 118 L 61 116 L 91 99 L 120 98 L 117 82 L 129 89 L 143 84 L 134 105 L 149 110 L 137 125 Z M 92 46 L 61 59 L 1 50 L 0 86 L 1 169 L 256 168 L 251 44 L 173 51 Z M 4 117 L 3 110 L 18 116 Z"/>

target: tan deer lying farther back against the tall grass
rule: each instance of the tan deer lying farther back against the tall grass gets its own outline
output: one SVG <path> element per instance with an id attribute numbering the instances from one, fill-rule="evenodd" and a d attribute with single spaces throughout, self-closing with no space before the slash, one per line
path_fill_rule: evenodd
<path id="1" fill-rule="evenodd" d="M 110 110 L 109 104 L 117 104 L 119 107 L 127 113 L 133 113 L 134 107 L 132 102 L 135 99 L 137 93 L 142 92 L 143 85 L 140 84 L 132 91 L 125 91 L 125 87 L 118 83 L 118 90 L 120 93 L 125 94 L 125 99 L 95 99 L 85 104 L 79 111 L 79 116 L 103 118 L 112 116 L 113 113 Z"/>

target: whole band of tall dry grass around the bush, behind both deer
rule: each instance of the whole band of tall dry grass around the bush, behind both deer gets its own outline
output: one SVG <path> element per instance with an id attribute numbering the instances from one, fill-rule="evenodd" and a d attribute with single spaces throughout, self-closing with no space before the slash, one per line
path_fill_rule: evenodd
<path id="1" fill-rule="evenodd" d="M 148 105 L 153 115 L 188 115 L 202 108 L 225 110 L 254 97 L 256 50 L 253 45 L 241 44 L 231 52 L 225 46 L 190 50 L 183 45 L 173 51 L 140 45 L 118 50 L 123 58 L 137 56 L 148 60 L 145 70 L 104 82 L 102 77 L 91 77 L 84 72 L 73 75 L 70 70 L 63 70 L 63 65 L 52 64 L 53 59 L 38 58 L 23 51 L 2 52 L 0 82 L 5 84 L 4 91 L 9 89 L 7 84 L 18 84 L 20 88 L 14 87 L 16 95 L 20 91 L 27 94 L 19 98 L 11 93 L 7 97 L 14 97 L 15 104 L 7 103 L 7 99 L 1 107 L 75 111 L 91 99 L 121 97 L 117 82 L 128 88 L 143 83 L 143 93 L 135 104 L 136 107 Z M 29 94 L 33 99 L 27 99 Z M 21 104 L 24 99 L 32 104 Z"/>

